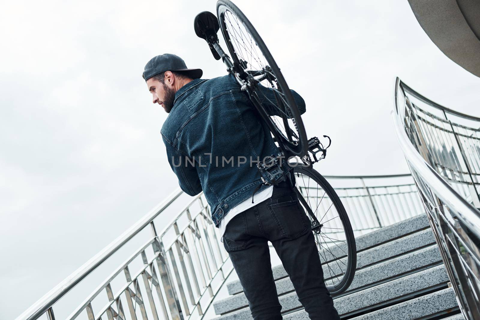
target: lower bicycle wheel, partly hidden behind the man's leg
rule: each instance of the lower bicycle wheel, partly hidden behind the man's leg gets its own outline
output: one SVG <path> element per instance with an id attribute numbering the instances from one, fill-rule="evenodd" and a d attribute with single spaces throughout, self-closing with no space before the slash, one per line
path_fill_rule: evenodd
<path id="1" fill-rule="evenodd" d="M 325 284 L 332 295 L 350 286 L 357 267 L 352 226 L 340 198 L 325 178 L 312 168 L 293 168 L 300 203 L 321 227 L 312 231 L 322 262 Z M 307 207 L 308 206 L 308 207 Z M 311 218 L 311 221 L 312 218 Z"/>

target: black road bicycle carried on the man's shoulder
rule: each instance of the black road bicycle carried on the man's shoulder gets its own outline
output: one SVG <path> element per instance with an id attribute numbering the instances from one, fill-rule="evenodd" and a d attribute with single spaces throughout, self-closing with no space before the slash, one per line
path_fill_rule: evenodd
<path id="1" fill-rule="evenodd" d="M 293 167 L 295 191 L 312 222 L 327 289 L 330 294 L 339 295 L 347 290 L 355 274 L 355 238 L 340 198 L 312 167 L 313 163 L 325 158 L 331 140 L 324 136 L 329 139 L 325 148 L 317 137 L 307 139 L 287 82 L 264 41 L 240 9 L 229 0 L 218 0 L 216 13 L 216 16 L 209 11 L 199 13 L 194 20 L 195 34 L 208 43 L 214 58 L 222 59 L 228 73 L 235 76 L 277 143 L 280 153 L 257 165 L 258 170 L 269 177 L 269 182 L 262 177 L 264 183 L 276 184 L 288 179 L 280 165 L 281 159 L 300 157 L 302 166 Z M 219 29 L 231 58 L 218 43 Z M 260 86 L 268 88 L 273 97 L 267 97 Z M 266 110 L 266 105 L 276 109 L 274 112 Z"/>

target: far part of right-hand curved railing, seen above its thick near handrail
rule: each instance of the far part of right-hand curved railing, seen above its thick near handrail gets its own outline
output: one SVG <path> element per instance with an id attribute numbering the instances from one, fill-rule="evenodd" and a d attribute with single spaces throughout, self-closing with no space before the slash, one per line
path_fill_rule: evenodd
<path id="1" fill-rule="evenodd" d="M 480 208 L 480 118 L 448 109 L 398 80 L 404 119 L 421 139 L 420 155 L 468 202 Z M 404 98 L 405 97 L 405 98 Z"/>

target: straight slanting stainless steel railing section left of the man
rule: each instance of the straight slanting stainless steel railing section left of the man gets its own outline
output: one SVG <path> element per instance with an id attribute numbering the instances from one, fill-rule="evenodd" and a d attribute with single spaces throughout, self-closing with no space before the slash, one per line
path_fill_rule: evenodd
<path id="1" fill-rule="evenodd" d="M 185 201 L 187 206 L 177 209 L 168 226 L 157 232 L 156 218 Z M 17 320 L 45 315 L 53 320 L 61 313 L 61 319 L 69 320 L 200 319 L 233 270 L 225 264 L 228 254 L 220 249 L 215 229 L 203 194 L 191 198 L 178 189 Z M 69 291 L 132 242 L 137 247 L 80 305 L 57 308 Z"/>

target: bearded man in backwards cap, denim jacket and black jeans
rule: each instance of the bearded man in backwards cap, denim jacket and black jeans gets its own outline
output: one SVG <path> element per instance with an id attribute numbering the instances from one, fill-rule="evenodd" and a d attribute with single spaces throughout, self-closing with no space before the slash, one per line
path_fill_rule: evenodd
<path id="1" fill-rule="evenodd" d="M 258 160 L 279 152 L 271 133 L 233 75 L 203 80 L 202 74 L 201 69 L 187 69 L 180 57 L 164 54 L 146 64 L 143 78 L 153 103 L 168 113 L 161 134 L 170 166 L 184 192 L 204 192 L 252 317 L 282 319 L 270 241 L 310 318 L 340 319 L 324 285 L 310 219 L 297 195 L 288 182 L 262 184 L 256 168 Z M 275 101 L 270 89 L 262 90 Z M 304 113 L 305 102 L 292 94 Z M 290 168 L 284 164 L 284 169 Z"/>

